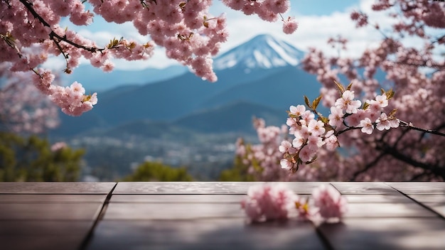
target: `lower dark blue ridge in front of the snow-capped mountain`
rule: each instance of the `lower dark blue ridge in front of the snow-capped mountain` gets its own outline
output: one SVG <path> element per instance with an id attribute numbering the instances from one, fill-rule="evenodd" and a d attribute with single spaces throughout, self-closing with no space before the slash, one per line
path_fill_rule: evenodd
<path id="1" fill-rule="evenodd" d="M 84 136 L 107 136 L 114 138 L 169 139 L 181 137 L 190 140 L 195 134 L 220 134 L 234 132 L 238 134 L 255 134 L 252 119 L 266 119 L 267 125 L 279 126 L 286 121 L 284 110 L 272 109 L 250 102 L 233 102 L 222 107 L 199 110 L 175 121 L 138 120 L 114 126 L 100 132 L 89 132 Z"/>

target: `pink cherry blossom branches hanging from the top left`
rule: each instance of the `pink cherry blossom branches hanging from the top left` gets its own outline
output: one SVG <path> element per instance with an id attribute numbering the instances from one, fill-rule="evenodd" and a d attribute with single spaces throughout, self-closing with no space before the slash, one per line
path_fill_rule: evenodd
<path id="1" fill-rule="evenodd" d="M 109 72 L 114 68 L 113 58 L 146 60 L 153 55 L 154 46 L 160 45 L 166 48 L 169 58 L 187 65 L 195 75 L 210 82 L 217 80 L 212 58 L 218 53 L 221 43 L 227 40 L 228 33 L 225 16 L 215 17 L 209 13 L 211 0 L 87 1 L 88 7 L 81 0 L 5 0 L 0 5 L 0 62 L 10 62 L 14 72 L 39 72 L 40 80 L 33 78 L 35 85 L 42 85 L 38 89 L 44 94 L 54 95 L 52 99 L 66 114 L 85 112 L 93 102 L 88 103 L 87 100 L 87 104 L 72 104 L 73 95 L 68 89 L 62 91 L 48 86 L 51 85 L 50 74 L 41 75 L 42 70 L 38 67 L 51 56 L 65 59 L 65 72 L 68 74 L 79 65 L 81 58 Z M 242 9 L 246 14 L 257 13 L 266 21 L 276 21 L 290 6 L 289 0 L 223 2 L 232 9 Z M 108 22 L 132 22 L 141 35 L 149 35 L 151 40 L 138 43 L 114 38 L 100 47 L 59 25 L 63 18 L 74 25 L 87 26 L 95 15 Z M 296 30 L 293 18 L 282 18 L 282 21 L 285 33 Z"/>

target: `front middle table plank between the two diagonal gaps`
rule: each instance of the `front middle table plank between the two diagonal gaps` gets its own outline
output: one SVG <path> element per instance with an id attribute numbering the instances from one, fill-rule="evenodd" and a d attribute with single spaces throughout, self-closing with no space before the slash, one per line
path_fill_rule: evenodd
<path id="1" fill-rule="evenodd" d="M 309 222 L 249 224 L 243 218 L 109 220 L 87 249 L 323 249 Z"/>

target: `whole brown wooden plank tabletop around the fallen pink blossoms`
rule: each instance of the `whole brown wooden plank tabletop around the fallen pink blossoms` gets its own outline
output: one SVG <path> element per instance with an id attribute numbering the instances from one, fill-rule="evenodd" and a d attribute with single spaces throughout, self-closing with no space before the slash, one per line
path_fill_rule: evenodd
<path id="1" fill-rule="evenodd" d="M 349 202 L 336 224 L 251 224 L 255 184 L 0 183 L 0 249 L 445 249 L 445 183 L 325 183 Z"/>

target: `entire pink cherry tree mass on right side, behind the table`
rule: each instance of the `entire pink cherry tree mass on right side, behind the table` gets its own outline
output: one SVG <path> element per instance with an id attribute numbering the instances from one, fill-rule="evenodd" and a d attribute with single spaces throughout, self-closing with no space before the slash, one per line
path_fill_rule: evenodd
<path id="1" fill-rule="evenodd" d="M 296 170 L 298 167 L 298 171 L 293 175 L 277 174 L 274 180 L 445 179 L 445 60 L 440 54 L 445 45 L 443 28 L 440 29 L 445 23 L 441 21 L 445 3 L 378 0 L 372 8 L 387 11 L 394 25 L 391 24 L 392 30 L 387 32 L 387 28 L 380 28 L 376 23 L 374 28 L 382 33 L 382 39 L 377 46 L 366 48 L 359 58 L 341 56 L 341 53 L 328 57 L 321 50 L 309 48 L 303 68 L 321 82 L 323 99 L 317 103 L 330 107 L 331 114 L 318 115 L 313 110 L 316 105 L 309 104 L 309 100 L 306 102 L 309 110 L 303 105 L 291 107 L 287 124 L 294 126 L 291 134 L 298 131 L 295 138 L 289 141 L 282 134 L 271 133 L 271 136 L 282 141 L 279 153 L 284 152 L 285 161 L 281 161 L 284 168 Z M 351 18 L 358 26 L 365 26 L 375 23 L 370 20 L 371 16 L 355 11 Z M 435 21 L 429 20 L 432 16 Z M 387 26 L 387 23 L 380 24 Z M 422 42 L 414 48 L 412 43 L 405 43 L 407 37 Z M 347 50 L 347 42 L 340 36 L 328 40 L 339 52 Z M 386 80 L 377 80 L 382 73 Z M 341 77 L 346 77 L 352 85 L 341 90 L 338 98 L 336 82 L 340 82 Z M 392 91 L 377 94 L 382 88 L 395 89 L 397 94 Z M 391 129 L 397 126 L 398 129 Z M 312 132 L 321 135 L 313 136 Z M 249 164 L 249 170 L 257 173 L 262 171 L 258 167 L 262 161 L 257 161 L 250 148 L 258 148 L 263 153 L 277 150 L 269 148 L 267 143 L 261 144 L 240 143 L 239 148 L 247 150 L 237 154 Z M 331 151 L 338 146 L 341 150 Z M 316 161 L 305 164 L 300 157 Z M 275 168 L 269 171 L 278 172 L 280 159 L 268 161 L 276 162 Z M 254 176 L 263 180 L 262 175 Z"/>

